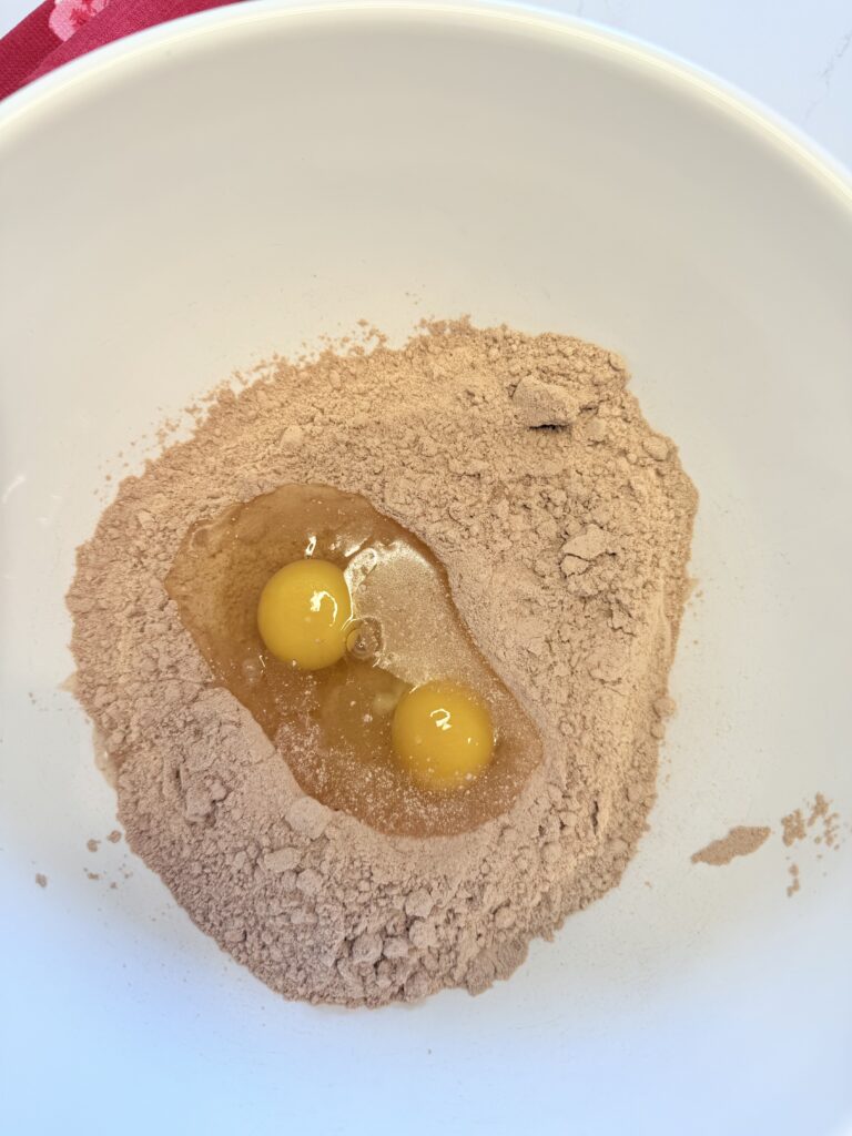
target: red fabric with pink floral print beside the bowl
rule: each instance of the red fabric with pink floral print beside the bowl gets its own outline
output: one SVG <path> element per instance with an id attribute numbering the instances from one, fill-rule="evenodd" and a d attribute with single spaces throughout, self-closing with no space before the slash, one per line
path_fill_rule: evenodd
<path id="1" fill-rule="evenodd" d="M 0 39 L 0 99 L 69 59 L 143 27 L 229 0 L 45 0 Z"/>

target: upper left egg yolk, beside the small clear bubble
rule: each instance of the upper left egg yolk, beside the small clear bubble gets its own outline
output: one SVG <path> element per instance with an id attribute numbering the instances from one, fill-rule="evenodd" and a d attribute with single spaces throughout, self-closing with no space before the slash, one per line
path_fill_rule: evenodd
<path id="1" fill-rule="evenodd" d="M 319 670 L 343 658 L 352 618 L 349 585 L 327 560 L 294 560 L 267 582 L 258 603 L 258 630 L 276 659 Z"/>

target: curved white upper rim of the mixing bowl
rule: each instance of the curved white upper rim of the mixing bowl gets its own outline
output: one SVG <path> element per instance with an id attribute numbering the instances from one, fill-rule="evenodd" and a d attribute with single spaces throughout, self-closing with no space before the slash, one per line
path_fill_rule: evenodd
<path id="1" fill-rule="evenodd" d="M 504 26 L 527 26 L 554 41 L 585 43 L 632 65 L 637 72 L 662 74 L 674 81 L 680 98 L 696 98 L 716 111 L 738 122 L 751 133 L 769 140 L 788 160 L 822 183 L 852 214 L 852 168 L 819 142 L 757 97 L 735 83 L 691 62 L 673 51 L 640 36 L 616 31 L 594 20 L 523 0 L 243 0 L 166 20 L 114 40 L 26 84 L 0 102 L 0 151 L 18 131 L 26 131 L 33 112 L 51 111 L 61 105 L 67 90 L 101 82 L 108 84 L 116 70 L 133 66 L 143 69 L 170 53 L 177 44 L 227 36 L 235 27 L 266 22 L 332 20 L 334 17 L 429 19 L 436 23 L 481 22 Z"/>

